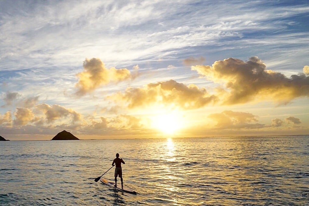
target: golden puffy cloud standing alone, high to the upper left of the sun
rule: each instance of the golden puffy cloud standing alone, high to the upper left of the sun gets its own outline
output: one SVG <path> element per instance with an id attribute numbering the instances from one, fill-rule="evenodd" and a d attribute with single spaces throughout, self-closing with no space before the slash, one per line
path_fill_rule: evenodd
<path id="1" fill-rule="evenodd" d="M 83 68 L 83 72 L 76 75 L 79 78 L 78 83 L 75 85 L 78 88 L 77 95 L 92 92 L 96 88 L 110 82 L 131 79 L 131 73 L 128 69 L 116 69 L 115 67 L 107 69 L 104 63 L 96 58 L 86 59 L 83 63 Z"/>

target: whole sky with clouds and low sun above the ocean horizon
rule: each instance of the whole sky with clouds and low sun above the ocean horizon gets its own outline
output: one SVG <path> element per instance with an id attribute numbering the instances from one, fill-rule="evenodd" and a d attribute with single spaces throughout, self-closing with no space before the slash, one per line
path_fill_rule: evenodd
<path id="1" fill-rule="evenodd" d="M 309 134 L 309 2 L 0 1 L 0 135 Z"/>

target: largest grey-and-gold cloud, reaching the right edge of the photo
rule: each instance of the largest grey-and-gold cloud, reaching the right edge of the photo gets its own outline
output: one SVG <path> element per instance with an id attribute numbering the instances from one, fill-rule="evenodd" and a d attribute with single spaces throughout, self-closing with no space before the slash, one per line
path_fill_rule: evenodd
<path id="1" fill-rule="evenodd" d="M 215 61 L 212 66 L 197 65 L 191 69 L 208 80 L 224 84 L 223 104 L 226 105 L 263 100 L 287 103 L 297 97 L 309 97 L 309 76 L 300 73 L 287 78 L 266 70 L 258 57 L 251 57 L 247 62 L 229 58 Z"/>

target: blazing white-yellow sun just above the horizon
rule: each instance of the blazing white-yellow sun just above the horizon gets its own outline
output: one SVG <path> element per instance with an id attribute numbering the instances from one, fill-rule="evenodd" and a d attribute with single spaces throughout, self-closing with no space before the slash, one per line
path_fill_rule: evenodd
<path id="1" fill-rule="evenodd" d="M 155 115 L 152 119 L 152 127 L 164 134 L 175 134 L 183 126 L 179 113 L 165 113 Z"/>

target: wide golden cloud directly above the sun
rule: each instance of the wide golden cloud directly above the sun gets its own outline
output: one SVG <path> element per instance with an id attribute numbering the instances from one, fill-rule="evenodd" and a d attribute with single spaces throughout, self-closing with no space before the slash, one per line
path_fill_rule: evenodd
<path id="1" fill-rule="evenodd" d="M 127 88 L 124 93 L 116 93 L 109 98 L 125 101 L 132 108 L 151 105 L 167 105 L 182 109 L 197 109 L 214 103 L 217 97 L 210 95 L 205 88 L 194 84 L 178 83 L 175 80 L 147 84 L 143 88 Z"/>

